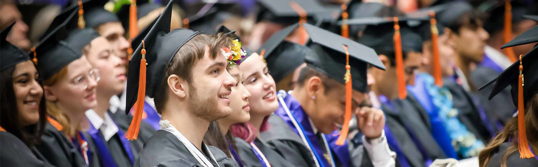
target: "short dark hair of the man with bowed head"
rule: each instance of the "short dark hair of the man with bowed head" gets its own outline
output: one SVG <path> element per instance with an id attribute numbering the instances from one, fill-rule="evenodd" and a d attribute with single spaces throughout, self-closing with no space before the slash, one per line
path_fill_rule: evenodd
<path id="1" fill-rule="evenodd" d="M 327 74 L 324 74 L 322 72 L 316 71 L 312 67 L 306 66 L 303 69 L 301 69 L 301 72 L 299 73 L 299 79 L 297 80 L 297 86 L 298 87 L 305 86 L 305 82 L 308 81 L 308 79 L 310 79 L 312 77 L 321 78 L 321 84 L 325 88 L 325 91 L 323 92 L 325 95 L 327 95 L 327 93 L 329 93 L 333 88 L 336 88 L 339 85 L 343 85 L 340 82 L 329 78 Z"/>

